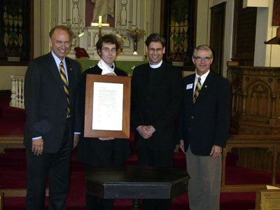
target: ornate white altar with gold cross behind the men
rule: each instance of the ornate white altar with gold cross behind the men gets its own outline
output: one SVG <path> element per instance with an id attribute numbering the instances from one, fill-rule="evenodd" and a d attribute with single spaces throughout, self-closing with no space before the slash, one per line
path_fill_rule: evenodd
<path id="1" fill-rule="evenodd" d="M 149 23 L 152 18 L 151 13 L 147 13 L 149 8 L 144 1 L 62 0 L 57 1 L 56 4 L 58 4 L 57 18 L 53 18 L 51 27 L 52 25 L 67 25 L 73 31 L 73 41 L 68 57 L 76 59 L 74 48 L 84 48 L 91 60 L 99 60 L 96 48 L 99 36 L 114 34 L 120 42 L 120 51 L 116 59 L 118 65 L 120 65 L 118 61 L 143 62 L 146 59 L 144 41 L 154 31 Z M 97 20 L 97 17 L 101 19 Z M 129 35 L 132 30 L 145 31 L 144 36 L 141 36 L 137 43 Z M 137 45 L 136 50 L 135 45 Z M 130 64 L 125 69 L 131 73 L 133 66 L 135 65 Z"/>

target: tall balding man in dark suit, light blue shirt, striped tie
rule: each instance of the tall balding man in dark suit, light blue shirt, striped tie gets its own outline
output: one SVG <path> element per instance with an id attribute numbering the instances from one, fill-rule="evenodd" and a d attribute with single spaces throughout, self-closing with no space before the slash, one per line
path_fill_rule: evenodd
<path id="1" fill-rule="evenodd" d="M 49 42 L 52 51 L 31 61 L 25 75 L 27 209 L 32 210 L 45 209 L 47 179 L 48 209 L 66 209 L 71 151 L 80 132 L 75 107 L 80 67 L 65 57 L 70 29 L 54 27 Z"/>

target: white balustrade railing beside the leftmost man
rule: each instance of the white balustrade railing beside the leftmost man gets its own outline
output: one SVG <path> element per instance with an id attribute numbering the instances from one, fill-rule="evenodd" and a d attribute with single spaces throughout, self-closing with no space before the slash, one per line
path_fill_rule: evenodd
<path id="1" fill-rule="evenodd" d="M 25 76 L 11 75 L 10 106 L 25 109 Z"/>

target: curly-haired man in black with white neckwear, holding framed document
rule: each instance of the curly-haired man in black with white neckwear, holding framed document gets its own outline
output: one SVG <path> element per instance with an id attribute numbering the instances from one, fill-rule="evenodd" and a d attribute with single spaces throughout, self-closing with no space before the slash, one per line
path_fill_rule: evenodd
<path id="1" fill-rule="evenodd" d="M 78 109 L 81 116 L 82 132 L 78 144 L 77 160 L 85 163 L 85 169 L 94 167 L 119 166 L 127 158 L 130 158 L 129 139 L 86 138 L 84 137 L 85 119 L 85 85 L 87 74 L 102 74 L 105 76 L 127 76 L 127 74 L 115 67 L 118 48 L 120 47 L 115 36 L 107 34 L 97 41 L 97 52 L 101 57 L 97 65 L 83 72 L 78 87 Z M 114 200 L 104 200 L 86 193 L 86 209 L 111 210 Z"/>

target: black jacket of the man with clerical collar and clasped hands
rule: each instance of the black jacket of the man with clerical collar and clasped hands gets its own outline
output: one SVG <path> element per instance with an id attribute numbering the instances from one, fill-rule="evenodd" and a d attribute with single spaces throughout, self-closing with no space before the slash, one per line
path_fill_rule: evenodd
<path id="1" fill-rule="evenodd" d="M 132 76 L 132 130 L 153 125 L 155 133 L 146 140 L 135 132 L 137 147 L 153 151 L 173 150 L 176 144 L 176 118 L 181 107 L 181 70 L 162 62 L 157 69 L 137 66 Z"/>

